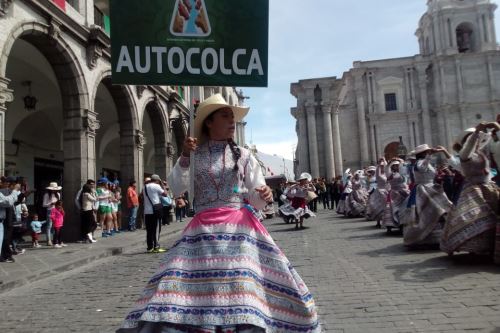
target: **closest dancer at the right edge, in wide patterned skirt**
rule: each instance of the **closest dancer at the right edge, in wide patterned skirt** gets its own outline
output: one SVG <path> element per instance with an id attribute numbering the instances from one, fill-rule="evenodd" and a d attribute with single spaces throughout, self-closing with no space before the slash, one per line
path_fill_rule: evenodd
<path id="1" fill-rule="evenodd" d="M 464 187 L 456 207 L 450 212 L 441 238 L 441 249 L 453 254 L 458 251 L 494 255 L 500 263 L 500 195 L 491 181 L 487 155 L 488 124 L 464 131 L 454 149 L 460 150 L 460 163 L 465 177 Z"/>

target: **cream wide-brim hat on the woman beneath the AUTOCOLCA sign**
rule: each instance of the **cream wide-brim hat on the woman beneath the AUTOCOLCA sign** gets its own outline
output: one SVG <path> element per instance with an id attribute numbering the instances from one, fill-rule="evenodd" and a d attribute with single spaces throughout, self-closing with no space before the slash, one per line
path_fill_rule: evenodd
<path id="1" fill-rule="evenodd" d="M 215 94 L 204 100 L 196 108 L 196 117 L 194 119 L 194 136 L 198 139 L 198 144 L 208 140 L 205 134 L 202 133 L 203 122 L 207 117 L 219 109 L 230 108 L 233 110 L 234 122 L 237 123 L 248 113 L 250 108 L 229 105 L 221 94 Z"/>

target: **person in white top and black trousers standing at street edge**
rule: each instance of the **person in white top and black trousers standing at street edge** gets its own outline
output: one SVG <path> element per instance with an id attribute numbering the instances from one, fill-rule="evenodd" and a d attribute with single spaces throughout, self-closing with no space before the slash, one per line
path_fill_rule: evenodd
<path id="1" fill-rule="evenodd" d="M 152 175 L 151 182 L 144 186 L 144 219 L 146 221 L 146 241 L 149 253 L 165 252 L 160 247 L 160 232 L 163 206 L 160 196 L 167 196 L 160 176 Z"/>

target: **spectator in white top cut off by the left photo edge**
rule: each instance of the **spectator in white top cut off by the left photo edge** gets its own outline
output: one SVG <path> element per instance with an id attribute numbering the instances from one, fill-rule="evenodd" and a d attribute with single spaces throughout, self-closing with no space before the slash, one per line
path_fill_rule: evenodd
<path id="1" fill-rule="evenodd" d="M 14 203 L 19 196 L 20 186 L 15 178 L 2 177 L 0 180 L 0 262 L 15 262 L 10 248 L 12 237 L 12 221 L 14 218 Z"/>

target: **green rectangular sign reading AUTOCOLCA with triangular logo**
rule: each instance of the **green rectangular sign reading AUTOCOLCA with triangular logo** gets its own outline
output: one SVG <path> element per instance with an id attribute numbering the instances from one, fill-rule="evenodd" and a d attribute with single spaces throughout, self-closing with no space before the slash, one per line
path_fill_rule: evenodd
<path id="1" fill-rule="evenodd" d="M 113 83 L 266 87 L 269 0 L 111 0 Z"/>

